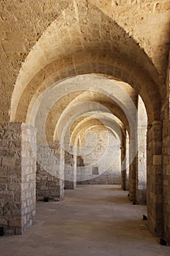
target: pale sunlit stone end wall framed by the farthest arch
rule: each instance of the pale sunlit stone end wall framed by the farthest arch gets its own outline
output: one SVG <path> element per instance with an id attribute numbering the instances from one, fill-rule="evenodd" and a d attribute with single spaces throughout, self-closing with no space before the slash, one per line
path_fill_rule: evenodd
<path id="1" fill-rule="evenodd" d="M 105 127 L 93 127 L 82 138 L 83 165 L 77 166 L 77 184 L 120 184 L 120 140 Z M 93 171 L 96 168 L 96 172 Z"/>

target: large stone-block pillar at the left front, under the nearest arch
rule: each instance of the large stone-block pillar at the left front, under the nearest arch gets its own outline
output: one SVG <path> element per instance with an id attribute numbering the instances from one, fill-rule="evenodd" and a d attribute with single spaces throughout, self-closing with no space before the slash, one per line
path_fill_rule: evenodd
<path id="1" fill-rule="evenodd" d="M 36 129 L 23 123 L 0 127 L 0 225 L 23 234 L 36 215 Z"/>

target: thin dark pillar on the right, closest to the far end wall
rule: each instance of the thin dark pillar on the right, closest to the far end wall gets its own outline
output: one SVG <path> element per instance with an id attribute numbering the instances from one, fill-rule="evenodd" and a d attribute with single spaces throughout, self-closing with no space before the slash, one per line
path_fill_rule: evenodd
<path id="1" fill-rule="evenodd" d="M 125 180 L 126 180 L 126 162 L 125 162 L 125 145 L 126 140 L 123 136 L 122 138 L 122 145 L 121 145 L 121 188 L 125 190 Z"/>

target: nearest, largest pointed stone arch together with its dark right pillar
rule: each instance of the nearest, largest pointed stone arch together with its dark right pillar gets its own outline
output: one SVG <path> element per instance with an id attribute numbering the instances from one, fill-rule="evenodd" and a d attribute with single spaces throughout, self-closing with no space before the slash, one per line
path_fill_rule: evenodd
<path id="1" fill-rule="evenodd" d="M 164 91 L 161 89 L 158 72 L 144 50 L 117 25 L 115 20 L 108 18 L 105 12 L 93 7 L 92 4 L 86 4 L 87 6 L 84 4 L 84 1 L 83 4 L 77 1 L 77 6 L 73 4 L 72 12 L 69 8 L 65 10 L 31 50 L 15 83 L 10 120 L 26 122 L 28 108 L 31 108 L 31 104 L 34 104 L 42 91 L 50 88 L 53 83 L 75 75 L 100 73 L 129 83 L 142 97 L 147 109 L 148 214 L 150 230 L 161 235 L 163 232 L 161 107 Z M 72 7 L 72 3 L 70 6 Z M 93 11 L 97 12 L 102 20 L 101 34 L 98 34 L 96 24 L 92 23 L 93 15 L 88 15 L 88 12 L 92 14 Z M 74 19 L 75 16 L 79 18 L 81 16 L 81 19 Z M 73 19 L 67 20 L 69 17 Z M 88 33 L 89 27 L 90 33 Z M 61 38 L 60 43 L 59 38 Z M 10 100 L 11 98 L 8 105 Z"/>

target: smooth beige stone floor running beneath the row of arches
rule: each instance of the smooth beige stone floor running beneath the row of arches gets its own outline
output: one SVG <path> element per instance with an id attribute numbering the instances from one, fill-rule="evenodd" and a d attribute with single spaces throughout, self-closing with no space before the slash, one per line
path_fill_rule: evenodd
<path id="1" fill-rule="evenodd" d="M 2 256 L 162 256 L 170 246 L 147 230 L 144 206 L 117 186 L 66 190 L 65 200 L 37 203 L 36 225 L 23 236 L 1 236 Z"/>

